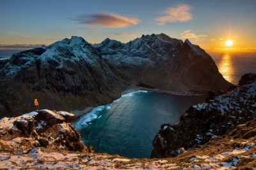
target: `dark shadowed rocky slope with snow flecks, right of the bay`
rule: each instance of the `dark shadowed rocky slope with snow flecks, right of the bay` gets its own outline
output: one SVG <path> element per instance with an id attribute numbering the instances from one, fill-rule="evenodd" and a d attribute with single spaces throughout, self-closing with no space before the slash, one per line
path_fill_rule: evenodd
<path id="1" fill-rule="evenodd" d="M 174 157 L 179 154 L 179 148 L 188 150 L 204 145 L 252 120 L 256 111 L 256 76 L 254 79 L 247 76 L 241 78 L 244 83 L 237 89 L 191 106 L 176 124 L 161 125 L 152 142 L 151 157 Z"/>

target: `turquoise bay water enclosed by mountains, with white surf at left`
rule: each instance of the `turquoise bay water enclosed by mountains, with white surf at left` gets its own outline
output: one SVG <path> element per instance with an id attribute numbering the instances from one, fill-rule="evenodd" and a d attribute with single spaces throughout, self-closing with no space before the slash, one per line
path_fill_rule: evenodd
<path id="1" fill-rule="evenodd" d="M 94 108 L 75 125 L 85 145 L 92 145 L 95 152 L 149 158 L 160 125 L 178 122 L 189 106 L 204 99 L 204 96 L 131 92 L 111 104 Z"/>

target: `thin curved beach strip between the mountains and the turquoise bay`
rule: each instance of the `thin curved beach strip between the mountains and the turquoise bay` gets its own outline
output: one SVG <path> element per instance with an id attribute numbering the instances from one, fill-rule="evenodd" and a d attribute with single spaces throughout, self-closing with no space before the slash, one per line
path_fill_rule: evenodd
<path id="1" fill-rule="evenodd" d="M 111 104 L 115 100 L 120 99 L 122 97 L 122 95 L 129 94 L 131 92 L 137 92 L 139 90 L 147 90 L 148 92 L 158 92 L 158 93 L 165 93 L 165 94 L 177 95 L 177 96 L 205 96 L 205 94 L 182 94 L 182 93 L 177 93 L 177 92 L 170 92 L 170 91 L 164 91 L 164 90 L 159 90 L 159 89 L 150 89 L 147 87 L 138 87 L 136 85 L 132 85 L 130 87 L 127 87 L 127 89 L 125 89 L 124 92 L 122 92 L 119 97 L 117 97 L 116 99 L 113 99 L 113 101 L 111 101 L 110 103 L 98 104 L 96 106 L 90 106 L 88 108 L 85 108 L 84 110 L 70 111 L 70 113 L 73 113 L 76 115 L 76 119 L 74 120 L 73 123 L 77 122 L 77 120 L 79 120 L 79 118 L 83 117 L 84 115 L 90 113 L 94 108 L 97 108 L 99 106 L 103 106 L 106 104 Z"/>

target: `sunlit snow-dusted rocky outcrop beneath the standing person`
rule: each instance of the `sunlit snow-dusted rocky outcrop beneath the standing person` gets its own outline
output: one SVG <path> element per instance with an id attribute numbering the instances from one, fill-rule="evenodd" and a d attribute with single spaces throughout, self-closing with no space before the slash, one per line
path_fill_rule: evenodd
<path id="1" fill-rule="evenodd" d="M 75 117 L 72 113 L 65 113 Z M 74 125 L 51 110 L 31 112 L 20 117 L 5 117 L 0 120 L 0 127 L 0 144 L 10 145 L 1 150 L 24 152 L 41 146 L 52 150 L 93 152 L 91 147 L 84 146 Z"/>

